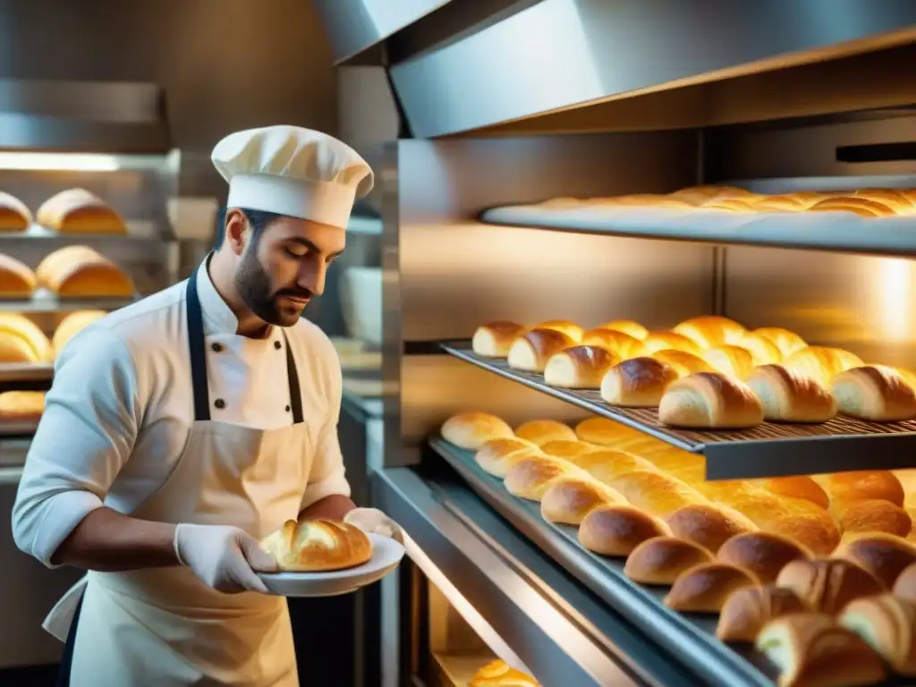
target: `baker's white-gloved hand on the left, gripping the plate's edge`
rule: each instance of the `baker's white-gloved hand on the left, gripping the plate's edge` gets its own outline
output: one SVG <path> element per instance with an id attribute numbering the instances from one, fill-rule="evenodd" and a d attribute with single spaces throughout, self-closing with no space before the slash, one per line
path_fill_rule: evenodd
<path id="1" fill-rule="evenodd" d="M 273 557 L 242 529 L 181 523 L 175 528 L 174 543 L 179 562 L 218 592 L 267 594 L 267 587 L 255 571 L 278 570 Z"/>

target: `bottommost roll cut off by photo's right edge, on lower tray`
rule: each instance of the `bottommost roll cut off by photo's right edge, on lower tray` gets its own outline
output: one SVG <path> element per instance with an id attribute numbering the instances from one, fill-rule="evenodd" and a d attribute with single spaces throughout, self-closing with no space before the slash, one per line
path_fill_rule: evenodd
<path id="1" fill-rule="evenodd" d="M 836 619 L 875 649 L 898 675 L 916 677 L 916 603 L 893 594 L 856 599 Z"/>

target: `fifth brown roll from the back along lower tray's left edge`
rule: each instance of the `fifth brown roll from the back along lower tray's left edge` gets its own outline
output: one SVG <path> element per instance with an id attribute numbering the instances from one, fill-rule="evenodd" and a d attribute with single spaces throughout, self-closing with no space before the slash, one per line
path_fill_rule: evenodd
<path id="1" fill-rule="evenodd" d="M 627 504 L 595 507 L 579 524 L 579 543 L 602 556 L 625 558 L 643 541 L 670 535 L 663 520 Z"/>

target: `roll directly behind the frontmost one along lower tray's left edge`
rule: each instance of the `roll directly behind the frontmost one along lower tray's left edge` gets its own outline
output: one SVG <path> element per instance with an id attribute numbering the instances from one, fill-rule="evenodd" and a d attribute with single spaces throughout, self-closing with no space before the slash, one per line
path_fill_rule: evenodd
<path id="1" fill-rule="evenodd" d="M 770 620 L 805 610 L 802 600 L 791 589 L 781 589 L 775 584 L 742 587 L 725 599 L 715 636 L 724 642 L 753 643 Z"/>

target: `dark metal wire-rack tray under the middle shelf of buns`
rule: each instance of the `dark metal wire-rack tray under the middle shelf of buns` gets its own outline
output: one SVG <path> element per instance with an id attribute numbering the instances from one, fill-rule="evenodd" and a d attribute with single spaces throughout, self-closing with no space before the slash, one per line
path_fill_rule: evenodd
<path id="1" fill-rule="evenodd" d="M 742 431 L 677 430 L 661 424 L 657 409 L 607 405 L 597 391 L 549 387 L 538 373 L 511 369 L 505 360 L 477 355 L 469 342 L 440 344 L 467 363 L 537 389 L 553 398 L 643 431 L 706 457 L 706 479 L 749 479 L 790 474 L 895 470 L 916 467 L 916 420 L 877 423 L 837 417 L 815 425 L 763 422 Z"/>

